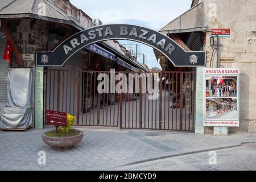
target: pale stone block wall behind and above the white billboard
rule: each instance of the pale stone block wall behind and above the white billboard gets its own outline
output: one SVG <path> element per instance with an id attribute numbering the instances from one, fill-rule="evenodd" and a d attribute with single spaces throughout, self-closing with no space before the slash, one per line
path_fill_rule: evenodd
<path id="1" fill-rule="evenodd" d="M 256 1 L 204 0 L 208 30 L 230 28 L 231 38 L 220 39 L 220 57 L 234 57 L 235 63 L 221 63 L 221 68 L 240 68 L 240 122 L 232 131 L 256 132 Z M 213 47 L 207 34 L 204 51 L 209 62 Z M 213 68 L 216 68 L 214 57 Z M 209 66 L 209 63 L 207 64 Z"/>

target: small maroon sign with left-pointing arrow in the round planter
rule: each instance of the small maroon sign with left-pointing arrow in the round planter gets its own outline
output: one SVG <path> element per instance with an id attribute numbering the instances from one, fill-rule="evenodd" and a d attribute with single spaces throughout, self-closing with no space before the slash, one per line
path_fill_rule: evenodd
<path id="1" fill-rule="evenodd" d="M 67 126 L 67 113 L 47 110 L 46 123 L 47 125 Z"/>

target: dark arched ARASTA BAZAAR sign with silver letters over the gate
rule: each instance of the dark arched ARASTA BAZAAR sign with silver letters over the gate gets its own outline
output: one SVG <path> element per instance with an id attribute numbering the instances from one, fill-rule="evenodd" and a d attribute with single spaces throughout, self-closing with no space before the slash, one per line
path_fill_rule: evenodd
<path id="1" fill-rule="evenodd" d="M 105 40 L 133 40 L 163 53 L 175 67 L 205 67 L 205 52 L 186 52 L 174 40 L 160 32 L 130 24 L 108 24 L 91 27 L 72 35 L 54 51 L 36 52 L 36 65 L 62 67 L 77 51 Z"/>

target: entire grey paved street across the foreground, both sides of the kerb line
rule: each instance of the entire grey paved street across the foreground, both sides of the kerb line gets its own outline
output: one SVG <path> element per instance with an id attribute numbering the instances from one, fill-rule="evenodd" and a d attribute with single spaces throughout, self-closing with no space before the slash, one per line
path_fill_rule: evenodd
<path id="1" fill-rule="evenodd" d="M 82 130 L 82 142 L 67 151 L 47 146 L 41 137 L 46 130 L 0 131 L 0 170 L 256 169 L 255 149 L 242 146 L 244 142 L 256 142 L 256 134 L 217 137 L 159 131 Z M 217 166 L 209 166 L 208 151 L 223 148 L 230 149 L 217 152 Z M 46 165 L 38 164 L 39 151 L 46 152 Z M 168 159 L 172 156 L 175 157 Z M 143 163 L 149 161 L 152 162 Z M 127 166 L 130 164 L 135 166 Z"/>

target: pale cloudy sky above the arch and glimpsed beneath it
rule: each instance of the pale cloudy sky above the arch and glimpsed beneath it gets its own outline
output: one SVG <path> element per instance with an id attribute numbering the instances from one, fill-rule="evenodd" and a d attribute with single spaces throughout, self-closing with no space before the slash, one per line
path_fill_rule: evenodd
<path id="1" fill-rule="evenodd" d="M 137 24 L 160 30 L 171 20 L 184 13 L 192 0 L 71 0 L 78 9 L 83 10 L 92 19 L 99 18 L 104 24 Z M 141 53 L 147 56 L 148 67 L 160 67 L 151 47 L 140 45 Z"/>

